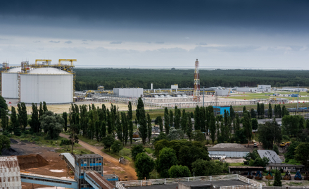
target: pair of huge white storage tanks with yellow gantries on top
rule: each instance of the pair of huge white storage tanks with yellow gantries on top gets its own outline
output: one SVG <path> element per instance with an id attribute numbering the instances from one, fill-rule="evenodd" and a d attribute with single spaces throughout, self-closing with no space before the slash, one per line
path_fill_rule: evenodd
<path id="1" fill-rule="evenodd" d="M 20 66 L 2 63 L 1 96 L 18 102 L 65 104 L 74 102 L 75 74 L 73 61 L 37 59 L 34 64 L 23 61 Z M 70 62 L 70 63 L 63 63 Z"/>

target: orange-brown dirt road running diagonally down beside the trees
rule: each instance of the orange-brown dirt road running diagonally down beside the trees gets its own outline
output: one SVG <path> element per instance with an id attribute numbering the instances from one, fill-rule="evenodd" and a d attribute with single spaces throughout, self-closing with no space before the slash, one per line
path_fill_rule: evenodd
<path id="1" fill-rule="evenodd" d="M 60 136 L 63 137 L 63 138 L 69 139 L 69 136 L 65 135 L 63 133 L 60 133 Z M 105 161 L 108 161 L 111 164 L 114 164 L 115 166 L 120 166 L 127 173 L 127 176 L 128 176 L 129 180 L 131 180 L 131 181 L 132 180 L 137 180 L 137 173 L 132 168 L 132 166 L 120 164 L 118 159 L 115 159 L 114 157 L 111 157 L 110 155 L 102 152 L 101 150 L 96 149 L 96 147 L 94 147 L 92 145 L 89 145 L 88 143 L 83 142 L 82 140 L 79 140 L 78 144 L 82 145 L 82 147 L 86 148 L 87 150 L 90 150 L 90 151 L 92 151 L 92 152 L 94 152 L 96 154 L 101 155 Z"/>

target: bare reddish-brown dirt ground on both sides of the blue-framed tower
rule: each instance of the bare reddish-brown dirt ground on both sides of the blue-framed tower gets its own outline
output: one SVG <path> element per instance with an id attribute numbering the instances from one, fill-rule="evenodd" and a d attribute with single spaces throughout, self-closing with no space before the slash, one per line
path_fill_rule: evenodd
<path id="1" fill-rule="evenodd" d="M 60 153 L 55 152 L 56 148 L 53 147 L 41 147 L 39 145 L 36 145 L 32 142 L 27 142 L 24 141 L 21 142 L 20 140 L 11 140 L 11 150 L 6 150 L 4 151 L 4 156 L 11 156 L 11 155 L 27 155 L 25 157 L 30 157 L 30 154 L 34 154 L 33 157 L 36 157 L 36 154 L 39 154 L 42 156 L 44 159 L 46 159 L 48 164 L 44 166 L 44 164 L 37 164 L 34 165 L 34 167 L 27 168 L 27 169 L 20 169 L 20 172 L 25 172 L 25 173 L 35 173 L 35 174 L 40 174 L 40 175 L 45 175 L 45 176 L 56 176 L 56 177 L 63 177 L 63 178 L 74 178 L 74 174 L 71 171 L 67 170 L 67 166 L 65 161 L 63 161 L 60 157 Z M 82 145 L 83 142 L 80 142 L 80 145 Z M 87 144 L 86 144 L 87 145 Z M 88 150 L 92 150 L 94 153 L 97 154 L 103 154 L 101 152 L 102 147 L 92 147 L 91 145 L 86 147 Z M 106 154 L 107 155 L 107 154 Z M 107 155 L 108 156 L 108 155 Z M 110 157 L 110 156 L 108 156 Z M 131 166 L 128 165 L 122 165 L 119 164 L 118 159 L 115 159 L 113 157 L 108 158 L 104 157 L 103 158 L 103 169 L 104 169 L 104 174 L 113 174 L 115 173 L 116 175 L 119 176 L 119 178 L 123 178 L 125 175 L 128 175 L 130 180 L 136 180 L 136 173 L 134 169 Z M 39 165 L 39 166 L 38 166 Z M 26 166 L 29 167 L 29 166 Z M 128 171 L 134 171 L 134 173 L 129 173 L 127 174 L 126 172 Z M 32 184 L 31 183 L 22 183 L 22 188 L 23 189 L 32 189 Z M 46 185 L 33 185 L 33 188 L 53 188 L 51 186 L 46 186 Z M 55 187 L 56 188 L 56 187 Z M 59 187 L 58 187 L 59 189 Z"/>

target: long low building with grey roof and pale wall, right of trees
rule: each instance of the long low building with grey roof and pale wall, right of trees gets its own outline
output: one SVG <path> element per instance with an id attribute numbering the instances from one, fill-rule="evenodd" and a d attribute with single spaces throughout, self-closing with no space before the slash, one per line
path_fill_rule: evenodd
<path id="1" fill-rule="evenodd" d="M 245 157 L 250 150 L 243 145 L 236 143 L 221 143 L 213 147 L 208 147 L 210 155 L 225 155 L 227 157 Z"/>

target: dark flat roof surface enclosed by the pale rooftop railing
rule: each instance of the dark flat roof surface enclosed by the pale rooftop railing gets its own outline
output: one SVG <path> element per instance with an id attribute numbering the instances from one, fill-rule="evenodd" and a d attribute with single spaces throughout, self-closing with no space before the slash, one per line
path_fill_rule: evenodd
<path id="1" fill-rule="evenodd" d="M 191 185 L 191 186 L 197 186 L 197 185 L 215 185 L 216 187 L 221 186 L 232 186 L 232 185 L 248 185 L 248 183 L 244 183 L 243 181 L 237 181 L 237 180 L 231 180 L 231 181 L 211 181 L 211 182 L 205 182 L 205 181 L 189 181 L 189 182 L 179 182 L 183 183 L 184 185 Z M 143 186 L 130 186 L 130 188 L 136 188 L 136 189 L 175 189 L 178 187 L 178 183 L 175 184 L 167 184 L 167 185 L 143 185 Z"/>

